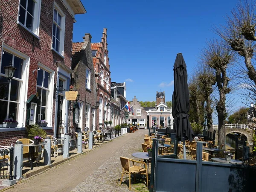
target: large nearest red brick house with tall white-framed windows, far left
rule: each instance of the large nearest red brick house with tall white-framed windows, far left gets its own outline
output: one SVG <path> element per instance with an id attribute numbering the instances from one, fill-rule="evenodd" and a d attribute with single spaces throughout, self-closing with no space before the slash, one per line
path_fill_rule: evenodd
<path id="1" fill-rule="evenodd" d="M 0 145 L 26 137 L 25 126 L 47 121 L 47 133 L 67 131 L 73 23 L 85 13 L 80 0 L 0 1 L 0 83 L 7 82 L 3 67 L 17 70 L 0 87 Z M 37 98 L 38 103 L 26 103 Z M 29 105 L 29 111 L 28 111 Z M 13 119 L 17 128 L 3 128 Z"/>

